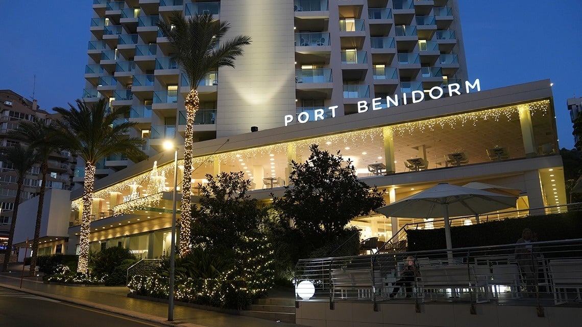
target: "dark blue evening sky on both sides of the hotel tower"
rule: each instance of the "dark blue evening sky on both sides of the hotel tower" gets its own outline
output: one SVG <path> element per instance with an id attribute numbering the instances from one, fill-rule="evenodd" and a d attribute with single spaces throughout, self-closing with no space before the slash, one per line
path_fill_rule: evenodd
<path id="1" fill-rule="evenodd" d="M 290 1 L 290 0 L 289 0 Z M 560 148 L 573 148 L 566 99 L 582 96 L 580 0 L 459 0 L 470 80 L 482 89 L 550 78 Z M 41 109 L 80 98 L 92 0 L 0 0 L 0 89 Z"/>

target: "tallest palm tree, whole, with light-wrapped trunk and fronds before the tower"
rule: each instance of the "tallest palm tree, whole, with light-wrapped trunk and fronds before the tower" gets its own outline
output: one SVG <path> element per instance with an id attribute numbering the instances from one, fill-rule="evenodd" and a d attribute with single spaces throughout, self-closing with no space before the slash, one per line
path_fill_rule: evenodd
<path id="1" fill-rule="evenodd" d="M 184 100 L 186 107 L 186 131 L 184 135 L 184 179 L 182 182 L 182 204 L 180 205 L 180 254 L 190 250 L 191 202 L 190 181 L 192 175 L 193 126 L 200 102 L 198 85 L 210 72 L 218 67 L 235 67 L 235 58 L 242 55 L 243 46 L 251 38 L 245 35 L 225 39 L 230 29 L 226 21 L 218 22 L 212 15 L 194 15 L 186 20 L 173 13 L 170 24 L 161 21 L 158 27 L 172 45 L 172 58 L 178 62 L 190 82 L 190 92 Z"/>

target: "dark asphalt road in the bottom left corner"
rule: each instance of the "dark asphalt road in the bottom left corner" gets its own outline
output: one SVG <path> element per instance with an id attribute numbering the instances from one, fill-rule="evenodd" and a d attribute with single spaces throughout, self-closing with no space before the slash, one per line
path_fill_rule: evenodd
<path id="1" fill-rule="evenodd" d="M 46 297 L 0 288 L 0 326 L 5 327 L 144 327 L 162 326 Z"/>

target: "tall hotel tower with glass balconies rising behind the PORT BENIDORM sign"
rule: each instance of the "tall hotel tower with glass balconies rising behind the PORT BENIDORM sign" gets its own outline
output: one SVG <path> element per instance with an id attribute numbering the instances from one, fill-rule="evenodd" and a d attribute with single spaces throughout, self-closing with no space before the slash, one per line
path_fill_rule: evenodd
<path id="1" fill-rule="evenodd" d="M 183 144 L 190 87 L 157 27 L 173 12 L 211 13 L 230 23 L 227 37 L 252 38 L 236 69 L 211 71 L 198 88 L 195 142 L 354 114 L 363 99 L 429 99 L 432 87 L 467 80 L 456 0 L 94 0 L 93 11 L 83 100 L 131 106 L 131 134 L 150 156 L 164 139 Z M 105 158 L 97 178 L 130 164 Z"/>

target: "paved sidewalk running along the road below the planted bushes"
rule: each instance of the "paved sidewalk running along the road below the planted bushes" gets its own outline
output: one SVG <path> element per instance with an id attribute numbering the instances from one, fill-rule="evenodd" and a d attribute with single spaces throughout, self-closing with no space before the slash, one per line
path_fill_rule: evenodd
<path id="1" fill-rule="evenodd" d="M 112 312 L 142 321 L 187 327 L 296 327 L 286 322 L 223 314 L 190 307 L 175 306 L 173 322 L 168 322 L 168 304 L 127 297 L 126 286 L 65 286 L 45 284 L 40 277 L 25 276 L 20 286 L 21 265 L 10 265 L 12 272 L 0 272 L 0 287 L 48 297 L 66 303 Z M 25 269 L 26 275 L 28 269 Z"/>

